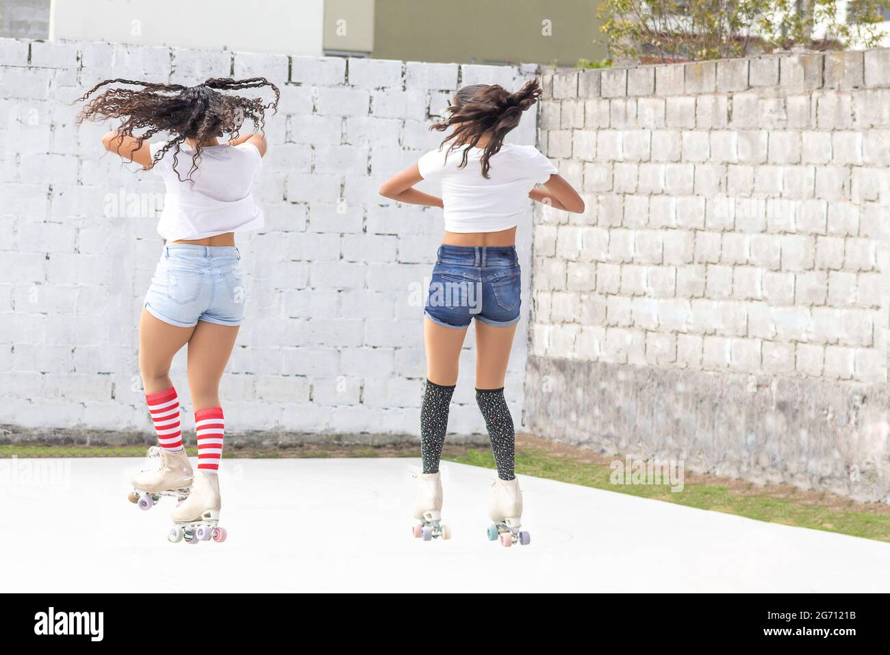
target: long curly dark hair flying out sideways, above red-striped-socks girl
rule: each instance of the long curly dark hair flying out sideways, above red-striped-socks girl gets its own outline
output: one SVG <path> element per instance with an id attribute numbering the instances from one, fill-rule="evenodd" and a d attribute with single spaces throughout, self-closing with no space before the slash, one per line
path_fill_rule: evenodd
<path id="1" fill-rule="evenodd" d="M 159 148 L 152 158 L 152 165 L 163 159 L 167 151 L 173 150 L 173 168 L 176 176 L 184 182 L 176 169 L 180 145 L 186 139 L 194 139 L 195 150 L 191 156 L 191 168 L 185 179 L 191 181 L 192 174 L 198 170 L 201 159 L 201 144 L 216 136 L 229 135 L 235 139 L 246 119 L 251 119 L 255 127 L 262 132 L 266 125 L 265 111 L 278 111 L 280 98 L 278 86 L 266 78 L 210 78 L 198 86 L 182 86 L 180 84 L 155 84 L 134 79 L 106 79 L 77 98 L 75 102 L 86 101 L 102 86 L 109 84 L 125 84 L 142 86 L 139 89 L 109 88 L 86 103 L 84 110 L 77 117 L 77 122 L 85 120 L 102 121 L 106 119 L 122 119 L 117 132 L 120 142 L 125 136 L 132 136 L 138 142 L 150 139 L 158 132 L 166 132 L 172 138 Z M 275 100 L 263 103 L 260 98 L 247 98 L 242 95 L 224 94 L 222 91 L 262 88 L 269 86 L 275 93 Z M 144 130 L 134 134 L 136 130 Z M 118 145 L 119 145 L 118 143 Z"/>

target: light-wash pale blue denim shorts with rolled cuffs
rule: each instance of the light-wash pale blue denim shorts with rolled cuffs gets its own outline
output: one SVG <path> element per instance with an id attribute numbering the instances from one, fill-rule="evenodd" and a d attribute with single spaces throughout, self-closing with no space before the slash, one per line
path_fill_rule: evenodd
<path id="1" fill-rule="evenodd" d="M 198 321 L 240 325 L 247 295 L 240 259 L 234 246 L 165 246 L 145 308 L 179 327 L 194 327 Z"/>

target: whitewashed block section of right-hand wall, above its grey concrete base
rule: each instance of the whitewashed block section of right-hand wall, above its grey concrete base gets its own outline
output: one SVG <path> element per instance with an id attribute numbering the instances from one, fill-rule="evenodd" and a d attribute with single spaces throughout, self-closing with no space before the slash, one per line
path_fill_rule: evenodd
<path id="1" fill-rule="evenodd" d="M 546 76 L 539 141 L 587 212 L 538 209 L 532 354 L 886 381 L 887 61 Z"/>

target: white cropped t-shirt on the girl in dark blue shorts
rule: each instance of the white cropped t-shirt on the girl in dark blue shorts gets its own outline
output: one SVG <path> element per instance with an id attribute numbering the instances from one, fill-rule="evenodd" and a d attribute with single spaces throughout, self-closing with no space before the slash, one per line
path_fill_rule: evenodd
<path id="1" fill-rule="evenodd" d="M 466 166 L 458 168 L 464 148 L 427 152 L 417 161 L 424 179 L 438 175 L 448 232 L 498 232 L 519 224 L 529 209 L 529 192 L 544 184 L 556 167 L 533 145 L 504 143 L 489 160 L 489 179 L 482 177 L 481 148 L 470 148 Z"/>

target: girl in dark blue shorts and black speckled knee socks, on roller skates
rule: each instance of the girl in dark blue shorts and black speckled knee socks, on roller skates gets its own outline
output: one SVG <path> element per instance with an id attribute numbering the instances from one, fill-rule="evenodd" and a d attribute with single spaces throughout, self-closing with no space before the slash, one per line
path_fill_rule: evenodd
<path id="1" fill-rule="evenodd" d="M 475 318 L 476 401 L 498 466 L 489 536 L 504 545 L 528 543 L 520 531 L 522 495 L 514 475 L 514 426 L 504 398 L 506 368 L 520 316 L 521 272 L 516 225 L 529 216 L 529 199 L 584 211 L 584 201 L 533 146 L 504 143 L 522 113 L 541 94 L 537 80 L 510 93 L 498 85 L 464 86 L 448 118 L 432 129 L 448 132 L 438 150 L 392 176 L 380 193 L 395 201 L 441 207 L 445 235 L 425 302 L 426 383 L 420 413 L 421 459 L 414 507 L 415 536 L 448 538 L 441 525 L 439 461 L 449 403 L 466 330 Z M 438 178 L 441 198 L 414 188 Z M 539 186 L 542 185 L 542 186 Z"/>

